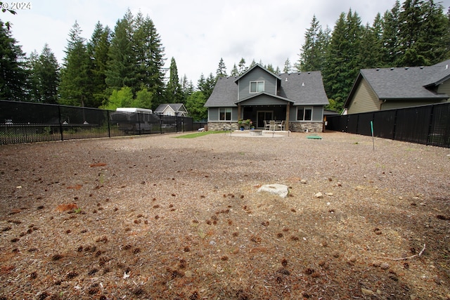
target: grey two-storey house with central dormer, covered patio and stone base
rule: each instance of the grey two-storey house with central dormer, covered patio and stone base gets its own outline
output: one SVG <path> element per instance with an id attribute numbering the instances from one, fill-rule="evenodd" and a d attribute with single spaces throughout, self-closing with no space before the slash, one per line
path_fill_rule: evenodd
<path id="1" fill-rule="evenodd" d="M 285 121 L 285 130 L 322 131 L 328 98 L 321 72 L 276 75 L 257 64 L 239 77 L 219 77 L 210 98 L 208 129 L 238 129 L 238 120 L 251 119 L 257 129 L 264 121 Z"/>

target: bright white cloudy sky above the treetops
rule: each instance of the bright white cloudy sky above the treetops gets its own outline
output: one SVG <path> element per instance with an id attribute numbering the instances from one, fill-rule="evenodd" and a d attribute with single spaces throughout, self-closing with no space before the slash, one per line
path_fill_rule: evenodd
<path id="1" fill-rule="evenodd" d="M 400 1 L 401 4 L 404 1 Z M 4 1 L 4 4 L 13 1 Z M 283 70 L 285 60 L 298 60 L 304 33 L 313 15 L 322 27 L 333 29 L 340 13 L 351 8 L 363 24 L 372 24 L 375 15 L 392 9 L 395 0 L 31 0 L 30 9 L 17 15 L 0 13 L 13 24 L 13 37 L 27 56 L 41 53 L 44 44 L 62 63 L 68 34 L 75 21 L 89 40 L 96 22 L 112 30 L 129 8 L 155 23 L 165 47 L 167 67 L 176 60 L 179 77 L 184 74 L 196 84 L 200 74 L 215 74 L 220 58 L 227 72 L 245 58 L 247 65 L 271 64 Z M 450 0 L 441 1 L 448 8 Z M 446 11 L 446 9 L 445 9 Z"/>

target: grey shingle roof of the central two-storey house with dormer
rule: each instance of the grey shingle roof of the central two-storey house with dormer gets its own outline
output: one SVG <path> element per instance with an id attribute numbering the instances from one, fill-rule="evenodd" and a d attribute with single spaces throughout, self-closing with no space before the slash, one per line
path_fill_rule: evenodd
<path id="1" fill-rule="evenodd" d="M 261 66 L 255 65 L 255 67 Z M 210 98 L 208 98 L 205 103 L 205 107 L 236 107 L 239 102 L 261 95 L 285 100 L 293 103 L 293 105 L 329 104 L 320 71 L 283 73 L 276 75 L 264 69 L 264 67 L 261 68 L 278 79 L 278 94 L 274 95 L 262 92 L 238 100 L 238 81 L 252 72 L 255 67 L 247 70 L 244 74 L 240 75 L 240 77 L 219 77 Z"/>

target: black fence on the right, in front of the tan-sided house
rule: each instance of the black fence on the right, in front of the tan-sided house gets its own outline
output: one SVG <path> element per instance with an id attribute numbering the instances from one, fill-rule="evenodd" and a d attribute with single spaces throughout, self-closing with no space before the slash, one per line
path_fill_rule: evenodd
<path id="1" fill-rule="evenodd" d="M 450 148 L 450 103 L 332 116 L 326 129 Z"/>

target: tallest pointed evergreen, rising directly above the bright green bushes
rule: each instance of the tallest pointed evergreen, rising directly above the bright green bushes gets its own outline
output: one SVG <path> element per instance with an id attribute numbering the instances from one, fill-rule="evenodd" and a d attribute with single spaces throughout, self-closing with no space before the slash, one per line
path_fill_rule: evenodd
<path id="1" fill-rule="evenodd" d="M 127 11 L 117 20 L 108 51 L 109 60 L 105 71 L 105 83 L 110 90 L 134 86 L 136 79 L 136 56 L 132 48 L 133 15 Z"/>

